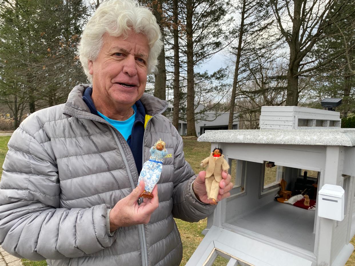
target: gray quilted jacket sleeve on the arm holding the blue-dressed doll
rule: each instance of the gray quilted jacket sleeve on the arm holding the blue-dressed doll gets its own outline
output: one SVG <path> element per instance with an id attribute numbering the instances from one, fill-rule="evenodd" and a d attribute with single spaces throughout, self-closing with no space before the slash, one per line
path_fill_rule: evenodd
<path id="1" fill-rule="evenodd" d="M 0 244 L 30 260 L 79 257 L 110 246 L 108 206 L 60 208 L 56 161 L 32 135 L 18 128 L 8 144 L 0 182 Z M 48 146 L 46 146 L 48 147 Z"/>

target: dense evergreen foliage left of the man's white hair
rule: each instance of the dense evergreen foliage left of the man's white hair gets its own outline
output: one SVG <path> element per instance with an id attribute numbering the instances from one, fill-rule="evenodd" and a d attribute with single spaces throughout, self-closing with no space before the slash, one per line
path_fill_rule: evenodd
<path id="1" fill-rule="evenodd" d="M 65 102 L 86 81 L 75 55 L 85 23 L 82 1 L 0 0 L 0 6 L 0 100 L 12 110 L 28 105 L 30 112 Z"/>

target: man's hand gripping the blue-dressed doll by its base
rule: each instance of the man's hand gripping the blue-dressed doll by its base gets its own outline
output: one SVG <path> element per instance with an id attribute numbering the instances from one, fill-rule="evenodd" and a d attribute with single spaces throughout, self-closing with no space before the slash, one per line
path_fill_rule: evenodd
<path id="1" fill-rule="evenodd" d="M 152 199 L 144 199 L 141 205 L 138 205 L 137 200 L 144 191 L 144 181 L 133 189 L 131 194 L 121 199 L 116 203 L 110 211 L 110 231 L 113 232 L 119 227 L 140 225 L 148 223 L 151 215 L 159 205 L 158 188 L 154 187 Z"/>

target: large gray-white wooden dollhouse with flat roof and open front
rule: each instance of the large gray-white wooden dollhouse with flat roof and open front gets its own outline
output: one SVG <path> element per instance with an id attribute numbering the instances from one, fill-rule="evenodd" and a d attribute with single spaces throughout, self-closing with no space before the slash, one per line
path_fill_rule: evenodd
<path id="1" fill-rule="evenodd" d="M 354 250 L 355 129 L 339 121 L 333 111 L 263 107 L 260 124 L 269 129 L 201 135 L 211 150 L 223 149 L 235 185 L 186 265 L 213 265 L 222 256 L 228 266 L 343 266 Z M 291 196 L 308 190 L 315 207 L 275 200 L 282 178 Z"/>

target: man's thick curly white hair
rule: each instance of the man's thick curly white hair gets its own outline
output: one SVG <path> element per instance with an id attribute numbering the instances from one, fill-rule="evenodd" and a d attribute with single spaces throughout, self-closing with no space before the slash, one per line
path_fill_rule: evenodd
<path id="1" fill-rule="evenodd" d="M 89 81 L 88 60 L 95 61 L 103 45 L 103 35 L 127 36 L 133 30 L 147 36 L 149 43 L 148 73 L 157 70 L 158 56 L 163 42 L 159 25 L 154 15 L 146 7 L 134 0 L 110 0 L 100 4 L 90 18 L 81 36 L 78 55 Z"/>

